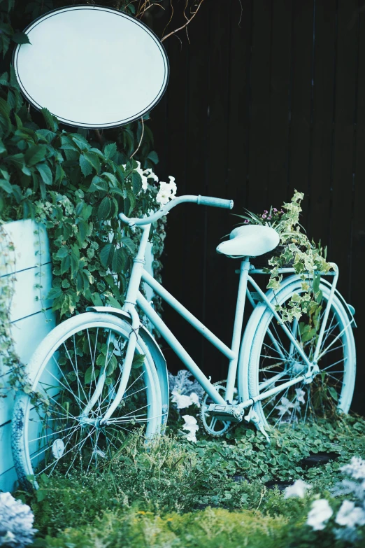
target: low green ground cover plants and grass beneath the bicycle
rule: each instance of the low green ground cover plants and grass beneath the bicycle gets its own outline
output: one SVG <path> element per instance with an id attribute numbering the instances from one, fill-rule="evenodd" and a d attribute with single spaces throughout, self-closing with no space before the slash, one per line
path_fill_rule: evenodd
<path id="1" fill-rule="evenodd" d="M 269 446 L 243 426 L 217 441 L 199 432 L 196 443 L 175 429 L 149 447 L 135 435 L 104 468 L 43 477 L 36 493 L 15 496 L 31 505 L 35 544 L 44 547 L 360 547 L 364 527 L 336 538 L 335 517 L 359 494 L 338 485 L 349 481 L 341 468 L 365 456 L 364 435 L 357 416 L 288 425 L 271 433 Z M 303 461 L 320 452 L 332 459 Z M 311 488 L 299 482 L 297 496 L 269 487 L 298 479 Z M 315 530 L 308 514 L 323 500 L 333 514 L 316 511 L 323 528 Z"/>

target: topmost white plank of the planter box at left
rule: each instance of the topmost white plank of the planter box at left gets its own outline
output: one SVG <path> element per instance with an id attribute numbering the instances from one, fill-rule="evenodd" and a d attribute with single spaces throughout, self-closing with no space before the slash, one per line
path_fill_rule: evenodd
<path id="1" fill-rule="evenodd" d="M 4 267 L 0 261 L 1 276 L 50 262 L 48 236 L 43 225 L 27 219 L 6 223 L 3 227 L 15 247 L 15 251 L 10 252 L 10 259 L 15 267 Z"/>

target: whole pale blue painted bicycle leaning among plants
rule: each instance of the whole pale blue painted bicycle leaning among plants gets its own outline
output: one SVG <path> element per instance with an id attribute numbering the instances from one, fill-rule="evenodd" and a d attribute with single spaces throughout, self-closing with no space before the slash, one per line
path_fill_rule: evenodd
<path id="1" fill-rule="evenodd" d="M 59 324 L 38 346 L 29 363 L 34 393 L 19 393 L 14 409 L 13 455 L 23 484 L 37 486 L 38 475 L 55 469 L 68 474 L 74 465 L 90 470 L 120 451 L 134 431 L 143 431 L 147 439 L 164 432 L 169 411 L 166 362 L 141 318 L 148 318 L 146 323 L 155 326 L 203 387 L 201 417 L 211 435 L 222 435 L 232 423 L 245 420 L 268 437 L 271 426 L 348 412 L 355 384 L 355 321 L 354 310 L 336 290 L 336 265 L 325 274 L 331 283 L 323 276 L 317 282 L 322 302 L 312 335 L 304 337 L 301 321 L 313 318 L 282 323 L 276 311 L 277 305 L 303 291 L 294 269 L 280 269 L 287 276 L 277 291 L 264 293 L 252 278 L 263 270 L 251 265 L 251 258 L 272 251 L 278 233 L 260 225 L 233 230 L 229 240 L 217 246 L 218 253 L 240 262 L 229 348 L 144 269 L 151 223 L 185 202 L 233 207 L 229 200 L 181 196 L 149 217 L 121 213 L 123 223 L 141 227 L 123 309 L 89 307 Z M 145 299 L 141 283 L 226 356 L 227 381 L 212 384 L 201 372 Z M 246 297 L 253 311 L 243 332 Z"/>

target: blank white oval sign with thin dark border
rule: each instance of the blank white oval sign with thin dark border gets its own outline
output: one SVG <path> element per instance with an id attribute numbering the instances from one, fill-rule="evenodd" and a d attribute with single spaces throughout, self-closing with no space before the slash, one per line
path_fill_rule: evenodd
<path id="1" fill-rule="evenodd" d="M 14 52 L 26 99 L 60 122 L 103 128 L 150 111 L 169 79 L 162 43 L 141 21 L 103 6 L 54 10 L 27 29 Z"/>

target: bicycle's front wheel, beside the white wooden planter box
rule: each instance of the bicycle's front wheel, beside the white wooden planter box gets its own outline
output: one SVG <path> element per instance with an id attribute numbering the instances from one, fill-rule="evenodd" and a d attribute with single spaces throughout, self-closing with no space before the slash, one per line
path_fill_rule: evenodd
<path id="1" fill-rule="evenodd" d="M 127 388 L 102 423 L 122 377 L 131 325 L 112 314 L 86 312 L 57 325 L 29 363 L 28 393 L 13 412 L 12 445 L 22 486 L 73 468 L 88 472 L 120 451 L 127 435 L 152 437 L 162 423 L 155 365 L 138 337 Z"/>

